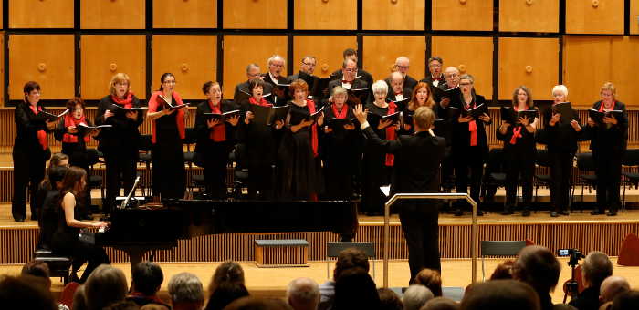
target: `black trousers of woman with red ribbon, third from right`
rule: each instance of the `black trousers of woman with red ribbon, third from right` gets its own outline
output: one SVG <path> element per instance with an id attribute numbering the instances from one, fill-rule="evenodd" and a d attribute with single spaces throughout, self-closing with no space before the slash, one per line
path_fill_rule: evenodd
<path id="1" fill-rule="evenodd" d="M 535 174 L 535 150 L 505 150 L 506 205 L 514 206 L 517 199 L 519 175 L 524 208 L 532 203 L 532 177 Z"/>

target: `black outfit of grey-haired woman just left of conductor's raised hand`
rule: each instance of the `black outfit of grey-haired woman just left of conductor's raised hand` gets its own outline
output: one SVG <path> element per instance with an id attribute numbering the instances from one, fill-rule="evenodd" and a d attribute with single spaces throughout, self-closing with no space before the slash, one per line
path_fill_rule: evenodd
<path id="1" fill-rule="evenodd" d="M 343 109 L 348 109 L 345 119 L 355 118 L 350 107 L 344 106 Z M 328 126 L 326 123 L 330 123 L 330 119 L 337 118 L 337 116 L 332 106 L 324 111 L 324 126 Z M 352 130 L 342 127 L 321 135 L 326 199 L 351 200 L 353 197 L 353 178 L 358 173 L 363 142 L 361 130 L 357 128 L 357 125 L 354 126 L 355 129 Z M 320 131 L 323 132 L 323 130 Z"/>

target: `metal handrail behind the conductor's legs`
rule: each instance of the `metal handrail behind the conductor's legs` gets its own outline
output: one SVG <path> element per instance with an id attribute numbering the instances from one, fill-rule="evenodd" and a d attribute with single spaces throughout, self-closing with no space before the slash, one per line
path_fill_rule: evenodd
<path id="1" fill-rule="evenodd" d="M 466 199 L 473 206 L 473 217 L 470 231 L 470 255 L 472 260 L 472 283 L 477 282 L 477 202 L 475 202 L 467 193 L 450 193 L 450 192 L 423 192 L 423 193 L 396 193 L 384 204 L 383 218 L 383 287 L 388 288 L 388 256 L 390 253 L 390 215 L 393 203 L 403 199 Z"/>

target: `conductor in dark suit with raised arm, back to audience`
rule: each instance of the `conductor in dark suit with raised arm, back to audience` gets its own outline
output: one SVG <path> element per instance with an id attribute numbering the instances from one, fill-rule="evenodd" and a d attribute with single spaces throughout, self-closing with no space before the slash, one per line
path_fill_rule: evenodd
<path id="1" fill-rule="evenodd" d="M 414 134 L 397 140 L 381 140 L 366 121 L 366 112 L 358 105 L 354 112 L 368 140 L 393 154 L 391 193 L 439 191 L 439 165 L 444 159 L 446 142 L 433 133 L 435 113 L 427 107 L 415 110 Z M 423 268 L 441 271 L 438 245 L 439 212 L 435 201 L 398 202 L 400 221 L 411 269 L 410 284 Z"/>

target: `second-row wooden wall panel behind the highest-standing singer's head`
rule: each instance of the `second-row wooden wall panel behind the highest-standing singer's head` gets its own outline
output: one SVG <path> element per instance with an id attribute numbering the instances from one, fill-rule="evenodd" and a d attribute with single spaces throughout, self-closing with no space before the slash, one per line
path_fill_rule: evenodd
<path id="1" fill-rule="evenodd" d="M 302 57 L 307 55 L 317 58 L 314 74 L 328 77 L 333 71 L 340 69 L 343 62 L 341 53 L 346 48 L 357 47 L 356 36 L 295 36 L 293 38 L 293 72 L 299 72 Z"/>

